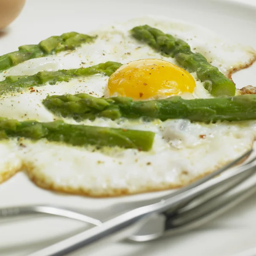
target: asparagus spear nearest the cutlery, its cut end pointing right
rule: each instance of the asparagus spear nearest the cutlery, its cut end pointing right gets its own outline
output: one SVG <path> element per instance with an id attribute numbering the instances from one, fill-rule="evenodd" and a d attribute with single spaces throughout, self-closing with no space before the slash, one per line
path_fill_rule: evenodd
<path id="1" fill-rule="evenodd" d="M 69 125 L 63 121 L 19 122 L 14 119 L 0 118 L 0 139 L 9 137 L 25 137 L 32 140 L 46 138 L 49 141 L 64 142 L 75 146 L 90 144 L 148 151 L 152 147 L 154 133 L 98 126 Z"/>

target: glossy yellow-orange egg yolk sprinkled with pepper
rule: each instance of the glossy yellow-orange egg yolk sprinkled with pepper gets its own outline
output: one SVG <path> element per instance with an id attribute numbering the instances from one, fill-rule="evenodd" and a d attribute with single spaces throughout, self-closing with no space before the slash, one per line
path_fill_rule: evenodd
<path id="1" fill-rule="evenodd" d="M 159 59 L 143 59 L 122 65 L 108 80 L 108 96 L 135 100 L 166 98 L 193 93 L 195 80 L 180 67 Z"/>

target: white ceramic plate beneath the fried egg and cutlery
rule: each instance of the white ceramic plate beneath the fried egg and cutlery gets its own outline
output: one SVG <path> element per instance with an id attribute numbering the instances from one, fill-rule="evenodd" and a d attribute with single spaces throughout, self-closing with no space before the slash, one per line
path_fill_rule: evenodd
<path id="1" fill-rule="evenodd" d="M 230 1 L 207 0 L 27 0 L 12 26 L 0 35 L 0 55 L 22 44 L 38 43 L 63 32 L 87 32 L 101 24 L 144 15 L 164 15 L 197 23 L 223 38 L 256 48 L 256 8 Z M 256 65 L 233 76 L 239 87 L 256 86 Z M 203 161 L 203 159 L 202 159 Z M 62 204 L 98 209 L 120 201 L 155 196 L 91 199 L 58 195 L 32 184 L 23 173 L 0 185 L 0 207 L 15 204 Z M 231 256 L 255 247 L 256 196 L 210 224 L 177 237 L 150 243 L 110 244 L 90 256 Z M 25 256 L 35 250 L 84 230 L 85 224 L 63 218 L 44 217 L 0 224 L 0 255 Z M 256 253 L 255 253 L 256 254 Z M 250 255 L 255 255 L 250 254 Z M 82 251 L 72 256 L 84 255 Z M 239 254 L 240 255 L 240 254 Z"/>

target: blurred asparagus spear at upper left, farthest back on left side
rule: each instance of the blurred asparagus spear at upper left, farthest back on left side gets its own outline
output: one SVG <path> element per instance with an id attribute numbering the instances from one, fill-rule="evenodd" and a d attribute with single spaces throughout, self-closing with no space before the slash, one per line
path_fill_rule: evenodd
<path id="1" fill-rule="evenodd" d="M 32 59 L 44 57 L 56 52 L 73 50 L 81 44 L 90 43 L 95 39 L 90 35 L 77 32 L 64 33 L 60 36 L 52 36 L 39 44 L 23 45 L 16 52 L 10 52 L 0 56 L 0 71 Z"/>

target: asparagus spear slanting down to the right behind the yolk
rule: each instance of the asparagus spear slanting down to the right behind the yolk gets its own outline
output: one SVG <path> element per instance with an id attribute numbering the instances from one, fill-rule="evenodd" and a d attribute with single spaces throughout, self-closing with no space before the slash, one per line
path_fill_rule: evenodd
<path id="1" fill-rule="evenodd" d="M 204 82 L 204 87 L 213 96 L 235 95 L 235 84 L 217 67 L 209 64 L 203 55 L 192 52 L 189 44 L 183 40 L 176 39 L 148 25 L 134 27 L 131 29 L 131 34 L 164 55 L 175 58 L 178 64 L 189 72 L 196 72 L 198 79 Z"/>

